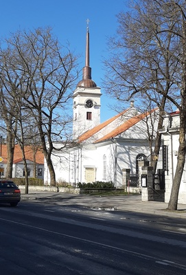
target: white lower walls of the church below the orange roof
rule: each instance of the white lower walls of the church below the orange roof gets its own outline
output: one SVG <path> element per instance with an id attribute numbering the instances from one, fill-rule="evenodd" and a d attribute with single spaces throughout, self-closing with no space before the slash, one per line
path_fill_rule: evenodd
<path id="1" fill-rule="evenodd" d="M 86 144 L 71 151 L 53 153 L 52 162 L 56 181 L 71 185 L 87 182 L 86 170 L 93 169 L 93 181 L 113 181 L 117 188 L 122 187 L 122 169 L 130 168 L 136 173 L 136 157 L 143 153 L 150 155 L 149 146 L 144 140 L 113 139 L 100 144 Z M 45 184 L 49 185 L 49 170 L 45 163 Z"/>

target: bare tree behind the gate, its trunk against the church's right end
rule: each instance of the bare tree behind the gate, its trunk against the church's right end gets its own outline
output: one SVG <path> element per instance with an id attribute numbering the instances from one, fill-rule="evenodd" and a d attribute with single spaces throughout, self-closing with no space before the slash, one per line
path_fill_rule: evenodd
<path id="1" fill-rule="evenodd" d="M 172 77 L 176 73 L 173 34 L 159 32 L 163 18 L 157 9 L 153 10 L 154 1 L 131 1 L 130 8 L 130 12 L 117 15 L 117 36 L 109 40 L 111 56 L 104 61 L 107 72 L 104 86 L 120 102 L 133 98 L 141 106 L 146 98 L 148 105 L 152 102 L 152 108 L 158 106 L 161 129 L 166 95 L 173 89 Z M 143 105 L 144 111 L 147 107 Z M 152 153 L 154 172 L 160 146 L 161 134 L 157 133 Z"/>

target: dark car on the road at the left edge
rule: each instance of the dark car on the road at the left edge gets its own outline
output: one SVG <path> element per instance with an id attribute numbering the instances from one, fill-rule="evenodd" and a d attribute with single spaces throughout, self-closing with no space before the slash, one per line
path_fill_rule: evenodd
<path id="1" fill-rule="evenodd" d="M 0 179 L 0 203 L 10 203 L 10 206 L 17 206 L 21 200 L 21 191 L 10 180 Z"/>

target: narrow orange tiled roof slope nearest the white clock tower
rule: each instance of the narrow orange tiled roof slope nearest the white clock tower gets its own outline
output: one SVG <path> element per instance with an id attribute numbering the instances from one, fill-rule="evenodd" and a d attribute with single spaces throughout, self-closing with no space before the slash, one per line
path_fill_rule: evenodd
<path id="1" fill-rule="evenodd" d="M 113 118 L 110 118 L 109 120 L 106 120 L 105 122 L 102 122 L 101 124 L 95 126 L 93 129 L 86 131 L 85 133 L 80 135 L 80 137 L 78 137 L 78 142 L 84 142 L 84 140 L 88 140 L 89 137 L 92 137 L 93 135 L 95 135 L 95 133 L 98 133 L 101 129 L 103 129 L 108 124 L 111 124 L 111 122 L 113 122 L 114 120 L 119 118 L 121 115 L 126 113 L 126 111 L 128 111 L 128 109 L 121 113 L 118 113 Z"/>

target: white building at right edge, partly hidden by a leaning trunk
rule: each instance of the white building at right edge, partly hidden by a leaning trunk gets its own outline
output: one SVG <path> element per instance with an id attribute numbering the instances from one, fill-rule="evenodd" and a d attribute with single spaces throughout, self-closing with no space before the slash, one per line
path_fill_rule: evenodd
<path id="1" fill-rule="evenodd" d="M 179 111 L 175 111 L 166 115 L 164 118 L 164 126 L 161 129 L 163 144 L 165 148 L 164 170 L 165 170 L 165 202 L 170 201 L 170 193 L 174 175 L 176 172 L 177 155 L 179 146 L 179 129 L 180 119 Z M 186 164 L 183 170 L 181 185 L 178 195 L 178 203 L 186 202 Z"/>

